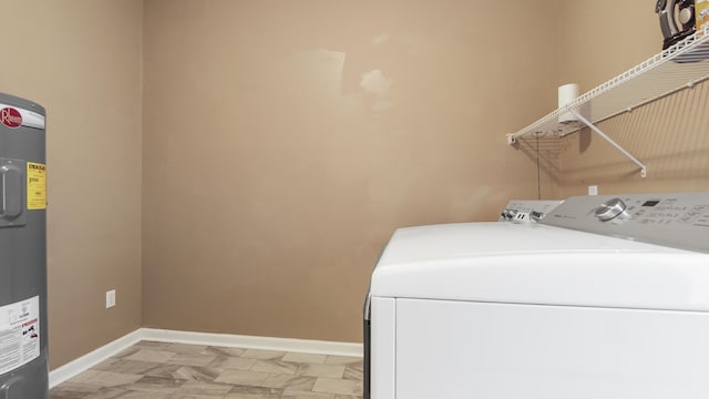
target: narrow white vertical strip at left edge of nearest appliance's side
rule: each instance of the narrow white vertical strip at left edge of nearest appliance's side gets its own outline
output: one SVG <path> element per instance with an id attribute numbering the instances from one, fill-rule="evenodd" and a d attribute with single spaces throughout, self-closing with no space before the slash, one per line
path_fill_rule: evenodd
<path id="1" fill-rule="evenodd" d="M 397 301 L 373 297 L 371 307 L 371 399 L 394 399 Z"/>

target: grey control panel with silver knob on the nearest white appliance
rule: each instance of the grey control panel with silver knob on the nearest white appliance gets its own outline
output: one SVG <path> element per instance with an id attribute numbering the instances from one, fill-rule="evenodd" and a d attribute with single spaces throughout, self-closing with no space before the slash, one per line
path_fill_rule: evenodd
<path id="1" fill-rule="evenodd" d="M 571 197 L 540 223 L 709 253 L 709 192 Z"/>

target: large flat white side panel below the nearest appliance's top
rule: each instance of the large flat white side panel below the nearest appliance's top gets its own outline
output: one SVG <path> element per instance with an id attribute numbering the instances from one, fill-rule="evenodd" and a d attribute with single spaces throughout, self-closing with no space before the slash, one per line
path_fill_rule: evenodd
<path id="1" fill-rule="evenodd" d="M 709 398 L 709 314 L 397 300 L 407 399 Z"/>

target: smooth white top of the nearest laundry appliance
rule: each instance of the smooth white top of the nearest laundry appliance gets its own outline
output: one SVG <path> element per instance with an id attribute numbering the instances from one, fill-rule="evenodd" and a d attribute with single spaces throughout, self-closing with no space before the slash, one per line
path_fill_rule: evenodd
<path id="1" fill-rule="evenodd" d="M 709 254 L 537 224 L 409 227 L 384 249 L 371 294 L 709 310 Z"/>

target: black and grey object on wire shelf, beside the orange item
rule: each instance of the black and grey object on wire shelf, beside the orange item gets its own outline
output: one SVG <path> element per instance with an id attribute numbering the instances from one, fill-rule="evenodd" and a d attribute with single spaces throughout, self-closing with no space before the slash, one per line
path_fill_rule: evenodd
<path id="1" fill-rule="evenodd" d="M 695 33 L 695 0 L 657 0 L 655 12 L 660 18 L 665 41 L 662 50 Z"/>

